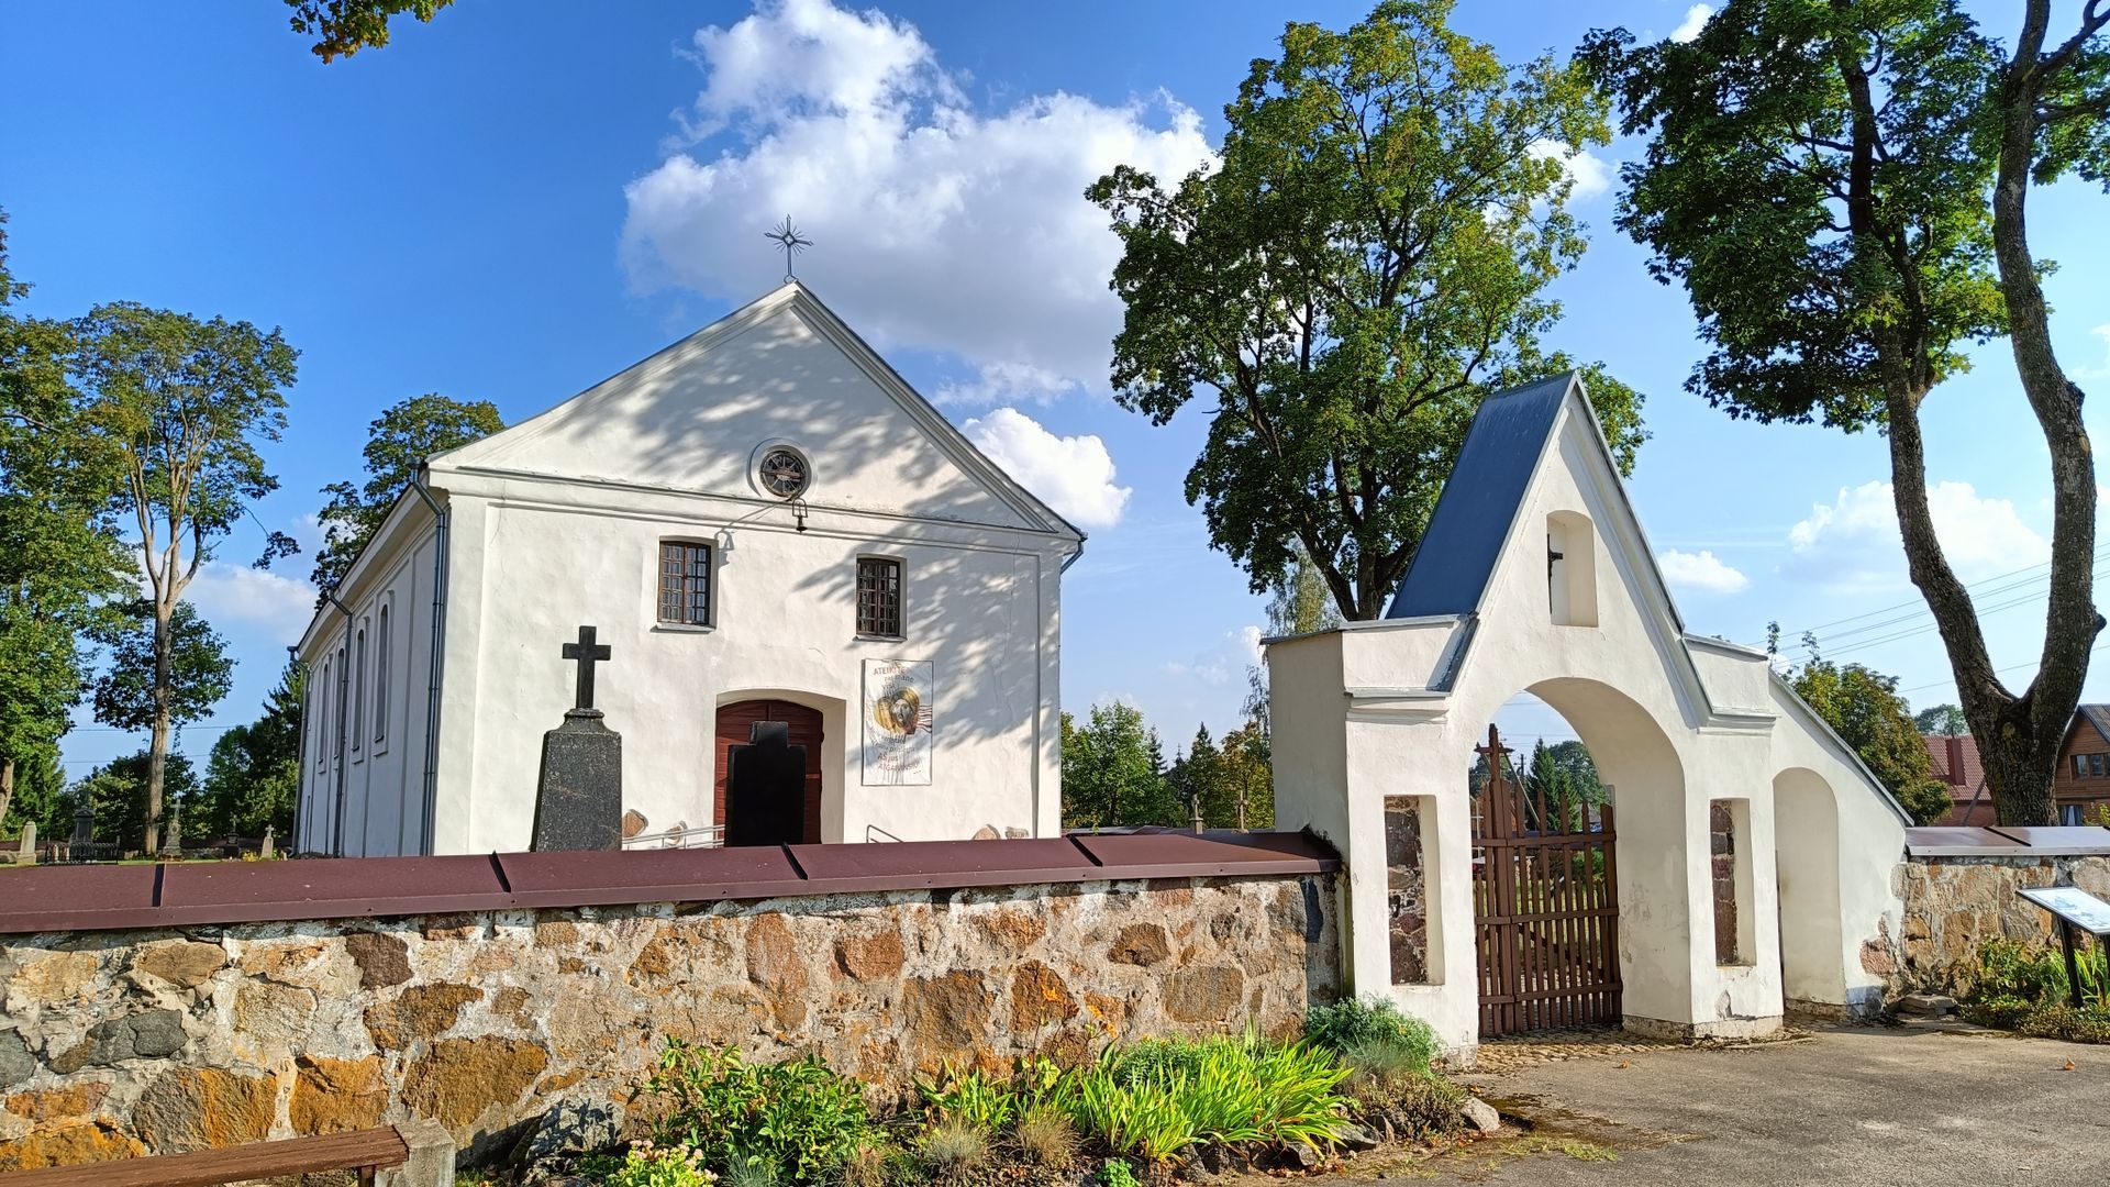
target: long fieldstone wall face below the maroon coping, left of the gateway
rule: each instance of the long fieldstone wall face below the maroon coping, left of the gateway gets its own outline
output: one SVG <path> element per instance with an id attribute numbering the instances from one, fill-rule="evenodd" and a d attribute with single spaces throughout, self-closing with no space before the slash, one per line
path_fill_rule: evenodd
<path id="1" fill-rule="evenodd" d="M 625 1109 L 669 1035 L 890 1092 L 1281 1035 L 1336 995 L 1336 927 L 1302 874 L 0 936 L 0 1172 L 416 1117 L 475 1160 Z"/>

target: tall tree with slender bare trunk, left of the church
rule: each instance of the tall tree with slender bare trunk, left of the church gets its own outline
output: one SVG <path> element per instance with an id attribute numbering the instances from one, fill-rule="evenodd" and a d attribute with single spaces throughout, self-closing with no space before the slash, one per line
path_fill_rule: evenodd
<path id="1" fill-rule="evenodd" d="M 175 613 L 213 549 L 276 490 L 257 444 L 285 429 L 285 393 L 298 353 L 247 321 L 200 321 L 141 304 L 106 304 L 76 327 L 84 448 L 118 467 L 116 503 L 137 530 L 139 570 L 152 623 L 148 824 L 143 847 L 160 849 L 162 769 L 177 695 Z M 270 532 L 264 558 L 291 553 Z"/>

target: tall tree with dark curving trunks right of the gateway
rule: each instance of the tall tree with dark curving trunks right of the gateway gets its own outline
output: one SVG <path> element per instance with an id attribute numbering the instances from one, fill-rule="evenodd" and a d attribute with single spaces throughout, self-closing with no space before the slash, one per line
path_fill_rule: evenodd
<path id="1" fill-rule="evenodd" d="M 2049 40 L 2023 0 L 2011 51 L 1958 0 L 1730 0 L 1699 38 L 1591 34 L 1580 59 L 1648 137 L 1620 226 L 1682 283 L 1709 342 L 1688 389 L 1732 416 L 1882 429 L 1914 585 L 2004 824 L 2049 824 L 2051 777 L 2102 619 L 2095 465 L 2051 348 L 2030 188 L 2110 173 L 2110 23 L 2087 0 Z M 2036 676 L 1996 674 L 1935 536 L 1922 401 L 2007 336 L 2051 452 L 2051 591 Z"/>

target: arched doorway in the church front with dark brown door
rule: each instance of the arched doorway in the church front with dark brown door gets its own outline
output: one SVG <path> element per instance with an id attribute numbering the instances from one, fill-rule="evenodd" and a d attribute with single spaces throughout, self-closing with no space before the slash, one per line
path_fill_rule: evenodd
<path id="1" fill-rule="evenodd" d="M 781 727 L 781 739 L 772 739 Z M 764 727 L 757 731 L 757 727 Z M 821 710 L 781 699 L 717 708 L 711 824 L 728 845 L 817 845 L 821 841 Z M 804 769 L 785 767 L 764 746 L 804 748 Z M 741 760 L 734 762 L 734 748 Z M 741 771 L 734 771 L 734 767 Z"/>

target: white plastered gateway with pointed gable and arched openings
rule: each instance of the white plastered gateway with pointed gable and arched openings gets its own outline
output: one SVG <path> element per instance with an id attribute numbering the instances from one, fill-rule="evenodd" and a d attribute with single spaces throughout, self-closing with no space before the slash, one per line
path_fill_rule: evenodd
<path id="1" fill-rule="evenodd" d="M 1547 530 L 1559 515 L 1593 530 L 1595 625 L 1557 625 Z M 1344 967 L 1359 993 L 1390 993 L 1445 1045 L 1477 1043 L 1466 771 L 1488 722 L 1534 693 L 1589 746 L 1612 788 L 1618 828 L 1620 976 L 1629 1024 L 1644 1031 L 1756 1035 L 1779 1026 L 1781 902 L 1775 853 L 1838 870 L 1838 896 L 1791 902 L 1796 997 L 1857 1001 L 1859 938 L 1886 912 L 1903 849 L 1895 807 L 1850 754 L 1770 678 L 1764 655 L 1688 640 L 1646 539 L 1618 496 L 1595 425 L 1576 395 L 1511 524 L 1475 617 L 1399 619 L 1268 646 L 1277 824 L 1310 826 L 1348 862 Z M 1447 678 L 1447 680 L 1445 680 Z M 1838 805 L 1840 843 L 1808 858 L 1777 839 L 1775 775 L 1800 769 Z M 1789 779 L 1794 784 L 1794 779 Z M 1428 984 L 1393 986 L 1384 910 L 1386 796 L 1422 796 L 1428 879 Z M 1709 877 L 1709 800 L 1745 800 L 1739 915 L 1747 944 L 1718 965 Z M 1794 807 L 1806 811 L 1806 798 Z M 1812 830 L 1798 815 L 1800 830 Z M 1808 849 L 1821 849 L 1812 836 Z M 1825 889 L 1825 887 L 1817 887 Z M 1812 942 L 1810 934 L 1821 940 Z M 1815 944 L 1815 948 L 1812 948 Z M 1819 976 L 1812 969 L 1827 969 Z"/>

